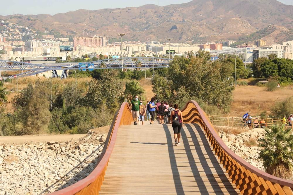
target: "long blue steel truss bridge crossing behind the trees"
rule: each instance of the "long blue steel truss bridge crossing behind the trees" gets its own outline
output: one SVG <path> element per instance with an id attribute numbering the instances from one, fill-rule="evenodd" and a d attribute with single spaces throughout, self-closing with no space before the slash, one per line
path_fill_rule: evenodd
<path id="1" fill-rule="evenodd" d="M 0 71 L 19 71 L 18 77 L 26 77 L 50 71 L 51 77 L 67 78 L 69 70 L 94 70 L 94 69 L 128 69 L 128 68 L 168 68 L 172 59 L 154 57 L 125 57 L 111 58 L 92 62 L 62 62 L 33 64 L 19 61 L 0 60 Z M 62 70 L 61 75 L 57 74 Z M 3 75 L 3 73 L 1 74 Z M 6 78 L 13 78 L 9 76 Z"/>

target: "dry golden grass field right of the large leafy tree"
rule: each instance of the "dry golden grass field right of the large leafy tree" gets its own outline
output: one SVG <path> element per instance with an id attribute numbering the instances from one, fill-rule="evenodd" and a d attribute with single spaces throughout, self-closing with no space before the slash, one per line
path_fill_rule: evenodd
<path id="1" fill-rule="evenodd" d="M 276 101 L 285 100 L 293 96 L 292 86 L 278 88 L 268 92 L 265 87 L 238 86 L 234 90 L 234 101 L 231 105 L 230 116 L 242 116 L 246 111 L 251 115 L 259 115 L 263 111 L 270 112 Z"/>

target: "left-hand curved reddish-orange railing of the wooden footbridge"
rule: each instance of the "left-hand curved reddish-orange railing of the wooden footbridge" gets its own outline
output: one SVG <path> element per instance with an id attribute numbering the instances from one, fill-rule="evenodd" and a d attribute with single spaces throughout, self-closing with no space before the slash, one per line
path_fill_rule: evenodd
<path id="1" fill-rule="evenodd" d="M 132 115 L 130 112 L 129 104 L 126 102 L 122 103 L 120 110 L 117 111 L 114 116 L 110 131 L 105 141 L 104 149 L 99 158 L 96 168 L 91 172 L 90 175 L 88 175 L 83 180 L 80 180 L 79 182 L 76 182 L 75 184 L 67 188 L 53 192 L 51 195 L 98 194 L 98 191 L 101 189 L 108 162 L 115 145 L 118 128 L 120 127 L 120 125 L 130 125 L 131 123 Z"/>

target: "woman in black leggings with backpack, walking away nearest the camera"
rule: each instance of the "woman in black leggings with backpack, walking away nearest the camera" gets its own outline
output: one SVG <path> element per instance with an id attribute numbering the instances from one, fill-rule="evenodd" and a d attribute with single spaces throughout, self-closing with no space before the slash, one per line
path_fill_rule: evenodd
<path id="1" fill-rule="evenodd" d="M 178 109 L 178 104 L 174 104 L 174 109 L 171 112 L 171 123 L 174 131 L 175 146 L 180 144 L 180 131 L 182 129 L 183 117 L 182 112 Z"/>

